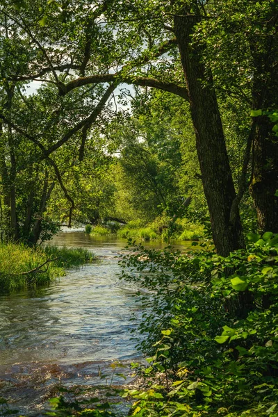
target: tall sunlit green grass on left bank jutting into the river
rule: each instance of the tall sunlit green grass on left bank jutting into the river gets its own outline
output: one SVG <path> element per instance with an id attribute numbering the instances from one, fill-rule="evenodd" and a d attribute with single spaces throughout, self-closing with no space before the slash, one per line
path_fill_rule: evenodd
<path id="1" fill-rule="evenodd" d="M 49 259 L 55 261 L 49 262 Z M 93 259 L 95 256 L 82 248 L 49 246 L 33 249 L 14 243 L 0 245 L 0 293 L 48 284 L 56 277 L 65 275 L 65 268 Z"/>

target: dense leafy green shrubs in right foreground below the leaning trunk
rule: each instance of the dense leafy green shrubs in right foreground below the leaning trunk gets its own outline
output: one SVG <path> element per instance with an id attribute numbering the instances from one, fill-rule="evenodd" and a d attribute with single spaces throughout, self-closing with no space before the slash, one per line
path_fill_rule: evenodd
<path id="1" fill-rule="evenodd" d="M 123 256 L 122 279 L 149 292 L 138 292 L 146 388 L 125 393 L 134 415 L 277 416 L 278 235 L 248 237 L 227 258 L 142 246 Z"/>

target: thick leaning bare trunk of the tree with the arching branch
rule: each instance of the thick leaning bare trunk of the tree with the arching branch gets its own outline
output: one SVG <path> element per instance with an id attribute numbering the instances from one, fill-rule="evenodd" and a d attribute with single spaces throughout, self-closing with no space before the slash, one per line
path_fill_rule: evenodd
<path id="1" fill-rule="evenodd" d="M 186 10 L 174 17 L 174 31 L 179 44 L 181 63 L 186 77 L 191 115 L 196 135 L 197 154 L 202 172 L 204 194 L 211 218 L 213 242 L 218 254 L 244 247 L 238 210 L 230 221 L 236 191 L 231 175 L 218 102 L 212 79 L 202 64 L 202 47 L 192 47 L 191 35 L 199 21 Z M 208 85 L 209 81 L 209 85 Z"/>

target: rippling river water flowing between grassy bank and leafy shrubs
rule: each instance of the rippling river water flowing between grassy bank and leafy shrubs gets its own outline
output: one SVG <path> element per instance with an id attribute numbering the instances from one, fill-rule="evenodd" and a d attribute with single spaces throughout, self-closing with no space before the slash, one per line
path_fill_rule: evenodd
<path id="1" fill-rule="evenodd" d="M 110 382 L 115 361 L 130 382 L 127 365 L 140 358 L 130 333 L 136 321 L 129 321 L 140 320 L 137 288 L 117 278 L 125 240 L 73 231 L 51 244 L 86 247 L 99 261 L 45 288 L 0 297 L 0 396 L 25 415 L 41 415 L 60 384 Z"/>

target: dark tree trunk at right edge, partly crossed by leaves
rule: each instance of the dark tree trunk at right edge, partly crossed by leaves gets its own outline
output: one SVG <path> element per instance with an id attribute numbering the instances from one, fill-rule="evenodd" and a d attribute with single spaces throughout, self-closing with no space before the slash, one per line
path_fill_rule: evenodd
<path id="1" fill-rule="evenodd" d="M 277 8 L 268 16 L 269 36 L 250 39 L 254 59 L 253 108 L 278 109 L 278 36 Z M 275 31 L 273 31 L 273 29 Z M 278 233 L 278 138 L 267 115 L 255 117 L 253 172 L 250 192 L 256 206 L 261 232 Z"/>

